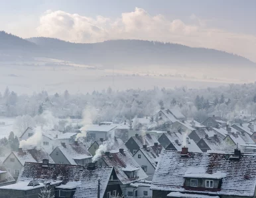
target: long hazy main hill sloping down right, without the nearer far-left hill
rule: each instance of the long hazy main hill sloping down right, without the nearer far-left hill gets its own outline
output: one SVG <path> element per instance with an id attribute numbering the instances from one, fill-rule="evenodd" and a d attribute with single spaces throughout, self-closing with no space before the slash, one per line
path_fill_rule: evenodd
<path id="1" fill-rule="evenodd" d="M 75 44 L 54 38 L 30 38 L 54 58 L 90 65 L 256 65 L 244 57 L 206 48 L 144 40 L 109 40 L 95 44 Z"/>

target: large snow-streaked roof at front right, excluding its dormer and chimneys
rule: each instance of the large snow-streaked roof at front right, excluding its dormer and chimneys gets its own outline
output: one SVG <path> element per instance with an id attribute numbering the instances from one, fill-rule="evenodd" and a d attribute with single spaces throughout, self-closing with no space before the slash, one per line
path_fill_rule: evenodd
<path id="1" fill-rule="evenodd" d="M 241 154 L 239 160 L 230 160 L 224 152 L 194 153 L 193 157 L 181 157 L 180 152 L 164 150 L 155 171 L 151 189 L 209 195 L 235 195 L 253 197 L 256 186 L 256 155 Z M 227 158 L 228 157 L 228 158 Z M 211 189 L 186 189 L 184 175 L 187 173 L 225 174 L 220 191 Z"/>

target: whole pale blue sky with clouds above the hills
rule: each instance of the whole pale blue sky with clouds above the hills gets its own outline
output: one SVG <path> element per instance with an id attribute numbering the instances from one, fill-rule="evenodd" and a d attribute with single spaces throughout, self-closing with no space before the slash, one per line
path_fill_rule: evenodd
<path id="1" fill-rule="evenodd" d="M 70 42 L 159 40 L 256 62 L 255 0 L 0 0 L 0 30 Z"/>

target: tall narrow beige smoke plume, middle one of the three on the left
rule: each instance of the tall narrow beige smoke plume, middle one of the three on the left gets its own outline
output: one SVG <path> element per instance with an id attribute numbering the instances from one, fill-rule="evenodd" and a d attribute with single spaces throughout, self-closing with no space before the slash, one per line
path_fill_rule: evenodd
<path id="1" fill-rule="evenodd" d="M 78 133 L 78 135 L 76 135 L 76 141 L 80 137 L 86 137 L 88 125 L 92 125 L 92 121 L 95 116 L 96 116 L 96 109 L 92 108 L 92 106 L 86 106 L 83 112 L 83 120 L 82 120 L 83 127 L 80 129 L 81 133 Z"/>

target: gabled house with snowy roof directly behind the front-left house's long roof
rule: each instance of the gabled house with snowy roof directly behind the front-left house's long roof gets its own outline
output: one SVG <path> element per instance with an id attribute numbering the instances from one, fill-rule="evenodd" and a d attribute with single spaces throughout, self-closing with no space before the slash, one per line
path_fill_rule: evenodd
<path id="1" fill-rule="evenodd" d="M 92 154 L 77 141 L 68 145 L 62 143 L 52 151 L 50 157 L 56 164 L 86 165 L 92 162 Z"/>

